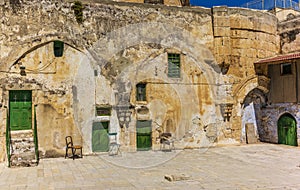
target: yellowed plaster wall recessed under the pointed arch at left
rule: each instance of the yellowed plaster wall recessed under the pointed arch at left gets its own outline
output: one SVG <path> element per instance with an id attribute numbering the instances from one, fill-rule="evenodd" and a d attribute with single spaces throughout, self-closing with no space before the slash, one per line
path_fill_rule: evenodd
<path id="1" fill-rule="evenodd" d="M 49 50 L 52 49 L 53 45 L 51 43 L 56 40 L 63 41 L 65 47 L 68 47 L 68 50 L 66 50 L 66 56 L 52 60 L 49 58 L 50 56 L 47 56 L 44 50 L 47 48 Z M 2 78 L 1 81 L 8 81 L 5 84 L 10 85 L 11 88 L 5 87 L 3 91 L 10 89 L 18 90 L 19 88 L 33 90 L 33 100 L 37 105 L 37 125 L 43 126 L 39 131 L 42 138 L 53 138 L 56 141 L 58 137 L 55 134 L 62 136 L 71 134 L 77 142 L 82 141 L 84 151 L 89 152 L 91 149 L 89 142 L 90 137 L 86 134 L 90 133 L 86 131 L 90 130 L 89 126 L 92 126 L 91 118 L 94 116 L 95 98 L 93 98 L 94 93 L 90 93 L 88 98 L 86 98 L 86 94 L 83 95 L 82 93 L 84 90 L 90 92 L 95 90 L 94 70 L 90 66 L 92 60 L 90 60 L 89 54 L 77 48 L 70 40 L 65 40 L 57 36 L 42 38 L 32 43 L 24 42 L 24 44 L 21 45 L 21 48 L 16 48 L 16 50 L 11 51 L 10 55 L 14 57 L 9 58 L 10 61 L 6 61 L 5 64 L 1 65 L 2 70 L 8 70 L 10 73 L 7 80 Z M 40 59 L 43 57 L 43 54 L 45 54 L 44 60 L 48 63 L 58 63 L 59 68 L 57 68 L 56 73 L 45 74 L 40 72 L 30 73 L 28 76 L 20 76 L 18 73 L 19 68 L 15 68 L 15 64 L 23 62 L 23 64 L 30 65 L 31 68 L 37 68 L 32 67 L 37 64 L 35 60 L 31 60 L 30 58 L 36 55 L 38 59 Z M 55 57 L 54 52 L 51 57 Z M 41 61 L 43 61 L 43 59 L 41 59 Z M 29 68 L 29 66 L 26 68 Z M 8 99 L 8 96 L 6 95 L 5 98 Z M 43 115 L 46 114 L 46 108 L 51 117 L 49 117 L 49 115 Z M 51 142 L 52 141 L 47 143 L 44 141 L 41 142 L 41 150 L 43 152 L 53 149 L 58 152 L 63 150 L 63 141 L 56 141 L 58 142 L 57 144 L 51 144 Z"/>

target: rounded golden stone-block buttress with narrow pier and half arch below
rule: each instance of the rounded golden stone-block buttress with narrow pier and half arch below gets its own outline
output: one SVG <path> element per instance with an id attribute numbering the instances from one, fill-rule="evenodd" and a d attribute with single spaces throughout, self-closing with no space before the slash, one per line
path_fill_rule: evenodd
<path id="1" fill-rule="evenodd" d="M 241 105 L 258 86 L 253 63 L 274 56 L 280 50 L 277 19 L 261 11 L 214 7 L 213 29 L 214 56 L 232 84 L 227 87 L 230 93 L 225 102 L 232 102 L 234 106 L 231 122 L 225 124 L 224 136 L 239 139 L 242 133 Z"/>

